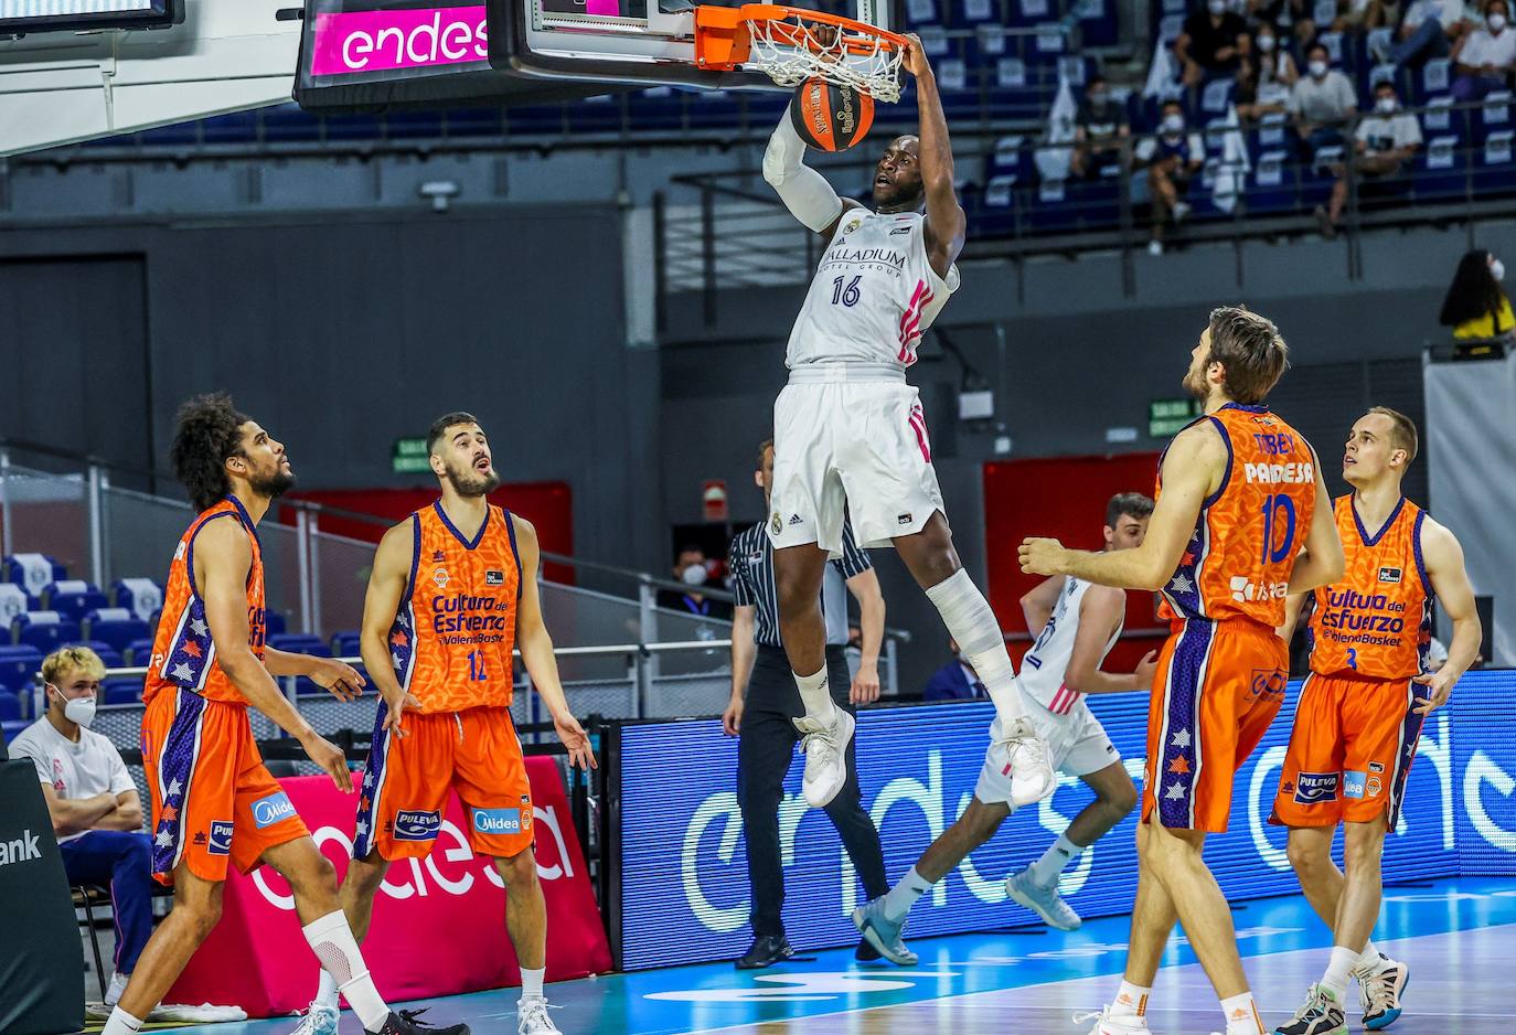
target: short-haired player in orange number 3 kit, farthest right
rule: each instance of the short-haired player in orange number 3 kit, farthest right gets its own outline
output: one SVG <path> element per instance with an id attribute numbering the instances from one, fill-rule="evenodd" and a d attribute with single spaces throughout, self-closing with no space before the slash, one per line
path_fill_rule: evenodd
<path id="1" fill-rule="evenodd" d="M 1405 964 L 1369 941 L 1383 893 L 1380 855 L 1399 818 L 1422 721 L 1474 664 L 1481 635 L 1463 547 L 1401 494 L 1416 438 L 1410 417 L 1375 406 L 1352 426 L 1342 458 L 1352 492 L 1334 511 L 1348 570 L 1314 596 L 1311 674 L 1270 817 L 1290 827 L 1301 890 L 1336 944 L 1320 983 L 1280 1035 L 1346 1035 L 1349 976 L 1358 979 L 1363 1026 L 1389 1027 L 1410 979 Z M 1452 618 L 1452 644 L 1446 664 L 1428 673 L 1434 600 Z M 1304 603 L 1289 600 L 1286 643 Z M 1346 876 L 1331 858 L 1339 823 Z"/>

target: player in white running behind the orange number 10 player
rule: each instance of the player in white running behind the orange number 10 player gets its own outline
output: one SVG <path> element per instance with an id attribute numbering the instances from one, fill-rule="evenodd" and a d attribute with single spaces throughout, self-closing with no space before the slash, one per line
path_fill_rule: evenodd
<path id="1" fill-rule="evenodd" d="M 1142 546 L 1151 514 L 1152 500 L 1140 492 L 1113 496 L 1105 506 L 1105 549 Z M 1054 576 L 1022 597 L 1022 609 L 1026 627 L 1038 633 L 1037 643 L 1022 658 L 1017 680 L 1022 693 L 1037 705 L 1028 706 L 1028 712 L 1048 741 L 1054 767 L 1088 783 L 1095 800 L 1073 817 L 1069 829 L 1037 862 L 1007 877 L 1005 890 L 1054 927 L 1073 930 L 1079 926 L 1079 915 L 1058 894 L 1060 874 L 1137 805 L 1132 777 L 1126 774 L 1101 721 L 1084 703 L 1084 696 L 1148 689 L 1152 686 L 1154 655 L 1143 658 L 1131 674 L 1101 671 L 1101 662 L 1122 635 L 1126 617 L 1126 594 L 1120 589 Z M 994 836 L 1014 811 L 1010 782 L 985 759 L 963 815 L 932 841 L 887 896 L 854 909 L 854 923 L 864 938 L 893 958 L 888 947 L 899 944 L 901 927 L 916 900 Z"/>

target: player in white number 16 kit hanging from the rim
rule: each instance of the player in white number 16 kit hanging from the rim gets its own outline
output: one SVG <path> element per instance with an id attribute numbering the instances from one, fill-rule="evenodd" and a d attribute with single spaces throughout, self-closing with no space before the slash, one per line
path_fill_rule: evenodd
<path id="1" fill-rule="evenodd" d="M 905 67 L 916 76 L 920 135 L 890 141 L 875 168 L 875 211 L 837 197 L 802 164 L 788 112 L 763 162 L 790 212 L 828 241 L 790 332 L 790 383 L 773 408 L 769 535 L 781 636 L 805 705 L 794 720 L 805 735 L 802 790 L 822 808 L 847 779 L 854 720 L 832 705 L 817 602 L 849 509 L 858 546 L 894 544 L 990 691 L 1002 733 L 991 755 L 998 768 L 1010 767 L 1013 800 L 1025 805 L 1052 793 L 1048 749 L 1016 693 L 994 612 L 954 550 L 926 417 L 905 383 L 922 333 L 958 286 L 954 259 L 964 236 L 948 121 L 920 41 L 911 41 Z"/>

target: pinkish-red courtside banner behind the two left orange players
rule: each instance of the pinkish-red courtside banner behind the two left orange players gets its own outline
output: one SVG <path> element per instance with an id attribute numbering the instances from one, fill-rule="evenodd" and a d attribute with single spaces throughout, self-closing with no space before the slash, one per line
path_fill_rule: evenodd
<path id="1" fill-rule="evenodd" d="M 537 874 L 547 899 L 547 980 L 603 973 L 611 968 L 611 950 L 558 765 L 529 756 L 526 774 Z M 359 779 L 355 774 L 355 786 Z M 340 793 L 326 776 L 280 783 L 341 877 L 352 853 L 356 796 Z M 520 983 L 505 935 L 500 876 L 468 850 L 467 829 L 452 797 L 435 824 L 432 855 L 393 864 L 379 890 L 362 950 L 381 994 L 391 1002 Z M 300 935 L 290 885 L 268 867 L 246 877 L 233 868 L 223 905 L 221 923 L 164 1002 L 235 1005 L 250 1017 L 303 1009 L 315 996 L 320 971 Z"/>

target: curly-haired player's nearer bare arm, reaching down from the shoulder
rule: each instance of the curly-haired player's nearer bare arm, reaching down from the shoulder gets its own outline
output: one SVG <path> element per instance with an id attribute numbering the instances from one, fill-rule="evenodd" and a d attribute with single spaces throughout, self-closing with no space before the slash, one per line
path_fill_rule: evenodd
<path id="1" fill-rule="evenodd" d="M 196 583 L 205 600 L 205 620 L 215 643 L 215 664 L 249 705 L 300 741 L 312 762 L 326 770 L 344 793 L 353 790 L 343 750 L 311 729 L 258 655 L 247 646 L 247 574 L 253 547 L 236 521 L 206 523 L 194 543 Z"/>

